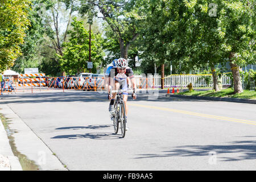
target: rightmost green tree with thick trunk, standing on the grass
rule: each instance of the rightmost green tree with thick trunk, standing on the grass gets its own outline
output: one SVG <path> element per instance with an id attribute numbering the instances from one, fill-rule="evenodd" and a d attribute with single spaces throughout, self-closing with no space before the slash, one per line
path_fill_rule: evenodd
<path id="1" fill-rule="evenodd" d="M 256 40 L 256 1 L 225 1 L 220 9 L 221 27 L 224 30 L 225 46 L 229 49 L 228 58 L 232 68 L 234 93 L 243 92 L 240 68 L 255 64 Z"/>

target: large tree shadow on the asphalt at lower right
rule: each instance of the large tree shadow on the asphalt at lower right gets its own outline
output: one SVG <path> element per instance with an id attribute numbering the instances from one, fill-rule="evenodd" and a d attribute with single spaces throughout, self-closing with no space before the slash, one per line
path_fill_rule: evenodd
<path id="1" fill-rule="evenodd" d="M 249 136 L 254 137 L 256 136 Z M 208 146 L 179 146 L 169 151 L 161 151 L 160 154 L 139 154 L 134 159 L 144 158 L 163 158 L 163 157 L 191 157 L 191 156 L 209 156 L 214 152 L 218 160 L 223 162 L 256 159 L 256 140 L 241 140 L 229 142 L 226 145 L 208 145 Z M 218 156 L 219 154 L 237 154 L 235 158 Z"/>

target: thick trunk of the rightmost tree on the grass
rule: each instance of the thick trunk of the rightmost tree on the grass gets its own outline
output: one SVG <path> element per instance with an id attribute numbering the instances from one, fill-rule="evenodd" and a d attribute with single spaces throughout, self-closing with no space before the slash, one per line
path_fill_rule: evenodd
<path id="1" fill-rule="evenodd" d="M 234 57 L 234 53 L 230 53 L 229 55 L 229 64 L 232 70 L 232 75 L 233 75 L 233 81 L 234 81 L 234 93 L 242 93 L 243 88 L 242 88 L 242 81 L 240 77 L 240 67 L 236 63 L 232 63 L 232 57 Z"/>

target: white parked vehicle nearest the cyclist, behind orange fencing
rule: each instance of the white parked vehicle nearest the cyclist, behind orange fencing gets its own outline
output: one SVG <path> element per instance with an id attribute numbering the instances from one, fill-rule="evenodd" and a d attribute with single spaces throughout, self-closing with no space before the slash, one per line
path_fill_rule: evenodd
<path id="1" fill-rule="evenodd" d="M 83 88 L 86 90 L 104 89 L 104 75 L 92 74 L 85 80 Z"/>

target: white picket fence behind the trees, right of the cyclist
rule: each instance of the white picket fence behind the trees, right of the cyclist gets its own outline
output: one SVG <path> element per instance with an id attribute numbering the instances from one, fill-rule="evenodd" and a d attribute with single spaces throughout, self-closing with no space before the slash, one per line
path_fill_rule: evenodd
<path id="1" fill-rule="evenodd" d="M 160 75 L 148 75 L 147 77 L 136 76 L 137 85 L 139 88 L 160 88 L 161 76 Z M 213 77 L 212 75 L 166 75 L 164 76 L 164 87 L 187 87 L 189 83 L 192 83 L 193 87 L 212 87 Z M 231 85 L 231 80 L 228 76 L 222 76 L 222 85 Z"/>

